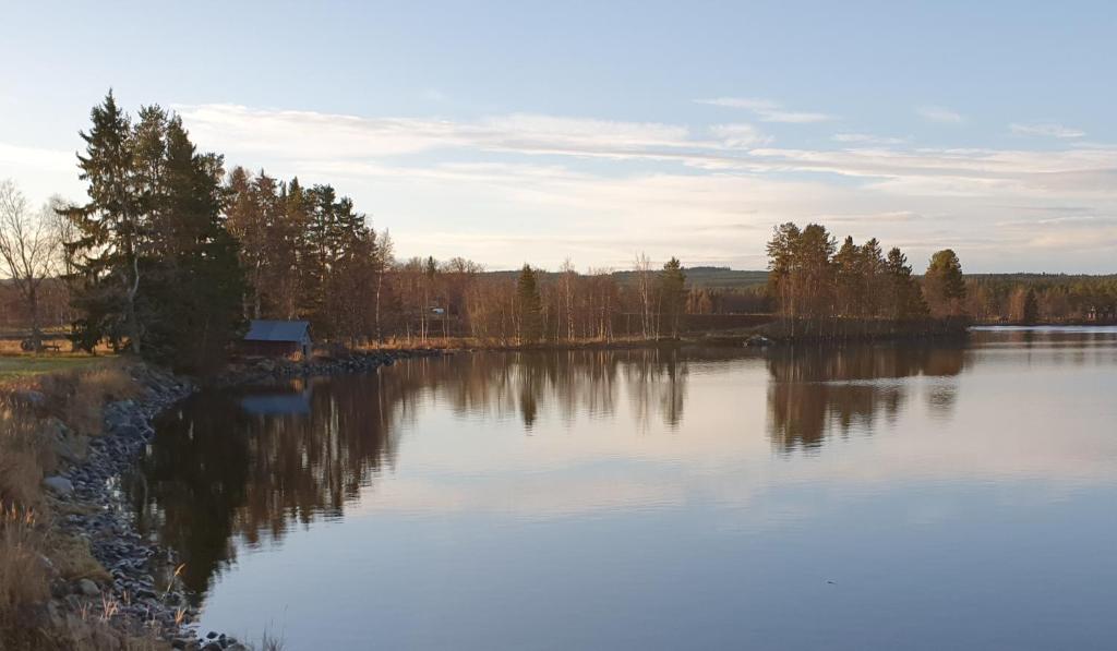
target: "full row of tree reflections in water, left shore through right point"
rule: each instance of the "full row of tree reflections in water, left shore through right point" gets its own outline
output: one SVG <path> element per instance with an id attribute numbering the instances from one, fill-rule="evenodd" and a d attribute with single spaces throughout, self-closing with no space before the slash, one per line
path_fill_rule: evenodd
<path id="1" fill-rule="evenodd" d="M 432 396 L 462 415 L 517 418 L 529 434 L 544 413 L 573 423 L 621 406 L 639 427 L 674 429 L 684 419 L 694 366 L 742 354 L 484 353 L 412 360 L 380 374 L 202 393 L 159 423 L 133 482 L 136 513 L 144 528 L 183 554 L 184 580 L 200 597 L 233 561 L 238 536 L 248 545 L 278 542 L 292 526 L 342 517 L 362 487 L 395 466 L 401 425 Z M 859 421 L 895 417 L 908 389 L 881 380 L 957 375 L 963 352 L 786 350 L 773 351 L 765 364 L 767 433 L 776 449 L 790 451 L 817 448 Z M 928 401 L 949 410 L 953 386 L 936 384 Z M 756 414 L 743 408 L 741 418 Z"/>

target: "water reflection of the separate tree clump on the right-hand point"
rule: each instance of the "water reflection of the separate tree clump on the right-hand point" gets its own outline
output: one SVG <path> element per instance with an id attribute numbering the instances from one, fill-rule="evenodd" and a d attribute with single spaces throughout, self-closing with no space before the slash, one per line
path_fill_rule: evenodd
<path id="1" fill-rule="evenodd" d="M 781 452 L 810 450 L 827 437 L 871 431 L 876 419 L 895 421 L 913 386 L 903 379 L 934 379 L 928 410 L 948 414 L 964 367 L 964 348 L 848 346 L 783 348 L 768 355 L 768 435 Z"/>

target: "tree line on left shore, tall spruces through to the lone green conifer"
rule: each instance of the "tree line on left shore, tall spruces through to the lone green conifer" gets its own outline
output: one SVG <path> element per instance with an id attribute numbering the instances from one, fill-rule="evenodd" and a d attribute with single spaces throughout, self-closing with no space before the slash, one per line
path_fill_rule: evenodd
<path id="1" fill-rule="evenodd" d="M 545 279 L 525 265 L 513 279 L 462 258 L 397 260 L 388 231 L 373 230 L 332 185 L 227 172 L 223 156 L 199 151 L 173 112 L 143 106 L 133 118 L 109 92 L 90 122 L 78 154 L 88 201 L 56 200 L 39 219 L 22 203 L 6 211 L 18 213 L 19 227 L 52 233 L 41 238 L 52 246 L 34 256 L 41 265 L 11 274 L 36 342 L 38 294 L 51 277 L 66 281 L 77 346 L 108 342 L 190 370 L 219 363 L 254 318 L 307 319 L 316 338 L 350 345 L 679 333 L 688 297 L 677 259 L 652 269 L 641 256 L 636 281 L 626 284 L 570 262 Z M 10 184 L 3 190 L 0 200 L 21 200 Z M 7 251 L 0 246 L 6 259 Z"/>

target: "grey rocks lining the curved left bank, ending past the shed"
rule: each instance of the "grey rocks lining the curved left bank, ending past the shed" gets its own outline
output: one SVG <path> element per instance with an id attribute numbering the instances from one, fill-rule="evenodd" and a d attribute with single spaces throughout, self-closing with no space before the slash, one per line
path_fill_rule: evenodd
<path id="1" fill-rule="evenodd" d="M 136 528 L 123 481 L 155 435 L 153 420 L 202 386 L 228 389 L 288 377 L 371 372 L 401 358 L 443 354 L 442 351 L 355 353 L 306 364 L 261 360 L 231 365 L 204 385 L 135 365 L 131 373 L 143 394 L 106 404 L 101 435 L 78 441 L 65 424 L 51 419 L 51 444 L 66 461 L 57 475 L 44 480 L 57 502 L 55 526 L 87 542 L 93 557 L 108 574 L 99 581 L 56 578 L 51 584 L 52 599 L 39 616 L 47 618 L 51 625 L 65 626 L 77 625 L 92 615 L 127 635 L 154 635 L 175 649 L 248 649 L 217 632 L 198 636 L 192 623 L 199 613 L 189 605 L 187 591 L 178 580 L 181 565 L 176 552 L 146 539 Z M 77 448 L 87 449 L 84 458 Z"/>

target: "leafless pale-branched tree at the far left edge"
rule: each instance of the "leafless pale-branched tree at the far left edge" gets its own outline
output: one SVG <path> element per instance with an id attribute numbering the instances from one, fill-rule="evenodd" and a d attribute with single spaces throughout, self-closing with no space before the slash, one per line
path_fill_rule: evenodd
<path id="1" fill-rule="evenodd" d="M 31 319 L 31 347 L 42 347 L 39 323 L 39 290 L 52 272 L 58 238 L 45 207 L 32 214 L 27 198 L 9 180 L 0 181 L 0 261 L 6 275 L 16 285 Z"/>

